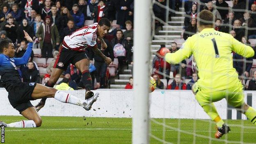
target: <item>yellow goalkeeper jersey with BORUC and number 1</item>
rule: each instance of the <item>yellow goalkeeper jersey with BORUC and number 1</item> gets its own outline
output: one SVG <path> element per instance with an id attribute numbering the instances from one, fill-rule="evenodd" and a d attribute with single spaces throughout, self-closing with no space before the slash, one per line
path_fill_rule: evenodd
<path id="1" fill-rule="evenodd" d="M 204 92 L 212 92 L 238 84 L 232 51 L 244 57 L 254 56 L 250 46 L 234 39 L 231 34 L 206 28 L 189 37 L 176 53 L 167 53 L 165 60 L 177 64 L 193 55 L 199 71 L 199 87 Z"/>

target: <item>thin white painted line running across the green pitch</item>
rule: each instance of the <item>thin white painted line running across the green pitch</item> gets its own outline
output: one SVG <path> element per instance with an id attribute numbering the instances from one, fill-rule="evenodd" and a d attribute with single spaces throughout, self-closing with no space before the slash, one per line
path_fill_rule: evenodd
<path id="1" fill-rule="evenodd" d="M 12 131 L 54 131 L 54 130 L 132 130 L 132 129 L 125 129 L 125 128 L 67 128 L 67 129 L 29 129 L 29 130 L 5 130 L 7 132 L 12 132 Z M 162 130 L 151 130 L 151 131 L 162 131 Z M 165 131 L 176 131 L 176 130 L 165 130 Z M 208 130 L 185 130 L 189 132 L 209 132 Z M 216 131 L 211 131 L 216 132 Z M 232 131 L 230 133 L 241 133 L 241 132 L 235 132 Z M 244 132 L 244 133 L 252 133 L 252 132 Z"/>

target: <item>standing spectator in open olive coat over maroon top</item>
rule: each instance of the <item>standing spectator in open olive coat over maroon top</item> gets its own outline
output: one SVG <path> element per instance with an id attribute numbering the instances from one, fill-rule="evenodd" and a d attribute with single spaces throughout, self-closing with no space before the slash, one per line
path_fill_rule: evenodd
<path id="1" fill-rule="evenodd" d="M 59 32 L 56 25 L 51 22 L 50 16 L 46 16 L 44 23 L 40 25 L 37 37 L 40 41 L 42 57 L 53 57 L 53 46 L 59 45 Z"/>

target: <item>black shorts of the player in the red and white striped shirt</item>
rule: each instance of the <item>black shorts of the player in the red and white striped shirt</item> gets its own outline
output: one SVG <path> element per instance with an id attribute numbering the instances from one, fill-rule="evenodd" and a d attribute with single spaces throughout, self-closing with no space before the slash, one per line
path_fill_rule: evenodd
<path id="1" fill-rule="evenodd" d="M 70 50 L 61 46 L 53 68 L 66 70 L 69 64 L 75 65 L 82 59 L 88 59 L 84 51 Z"/>

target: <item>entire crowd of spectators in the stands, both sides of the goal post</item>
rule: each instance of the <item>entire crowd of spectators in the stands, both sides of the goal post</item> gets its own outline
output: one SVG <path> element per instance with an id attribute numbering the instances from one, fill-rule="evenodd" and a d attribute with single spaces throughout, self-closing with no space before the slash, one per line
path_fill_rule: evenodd
<path id="1" fill-rule="evenodd" d="M 155 1 L 167 6 L 167 0 Z M 256 29 L 254 29 L 256 27 L 256 0 L 249 0 L 249 5 L 246 5 L 245 0 L 233 0 L 233 7 L 229 7 L 225 0 L 184 0 L 182 2 L 185 2 L 186 13 L 182 34 L 184 40 L 197 32 L 197 14 L 203 9 L 212 11 L 215 15 L 215 30 L 230 33 L 235 39 L 245 44 L 250 44 L 248 39 L 256 39 Z M 168 7 L 178 10 L 181 7 L 181 1 L 169 0 Z M 40 66 L 38 67 L 33 60 L 34 54 L 32 53 L 30 62 L 19 68 L 24 82 L 45 83 L 51 74 L 64 37 L 85 26 L 86 21 L 95 23 L 101 18 L 108 18 L 112 22 L 112 27 L 104 38 L 107 50 L 102 52 L 112 61 L 114 58 L 118 59 L 117 67 L 120 71 L 128 64 L 133 64 L 134 0 L 1 0 L 0 8 L 0 41 L 11 40 L 16 47 L 16 57 L 22 57 L 27 48 L 23 34 L 25 30 L 34 40 L 33 48 L 41 49 L 39 57 L 50 61 L 45 66 L 48 74 L 41 75 L 43 78 L 41 80 Z M 175 13 L 169 12 L 169 17 L 167 17 L 166 9 L 155 3 L 153 12 L 162 21 L 175 16 Z M 155 24 L 162 26 L 157 21 Z M 97 44 L 101 49 L 101 41 L 97 41 Z M 161 45 L 161 48 L 165 48 L 165 45 Z M 177 43 L 172 42 L 170 52 L 175 53 L 178 49 Z M 108 85 L 107 65 L 103 59 L 94 55 L 92 50 L 87 49 L 86 53 L 91 63 L 89 70 L 93 78 L 92 89 L 106 88 Z M 245 77 L 244 83 L 250 84 L 250 87 L 247 86 L 248 89 L 254 89 L 251 83 L 255 78 L 247 80 L 250 77 L 253 58 L 245 59 L 233 53 L 233 66 L 240 76 Z M 153 59 L 152 74 L 159 89 L 191 89 L 192 83 L 197 81 L 196 62 L 193 61 L 193 57 L 190 57 L 180 64 L 168 64 L 157 52 Z M 83 88 L 80 82 L 81 73 L 72 64 L 63 73 L 62 78 L 65 78 L 65 84 L 62 85 L 69 85 L 72 89 Z M 162 79 L 167 80 L 166 86 L 161 82 Z M 185 82 L 185 80 L 190 81 Z M 58 84 L 61 83 L 63 82 Z M 132 86 L 133 82 L 130 79 L 128 87 Z"/>

